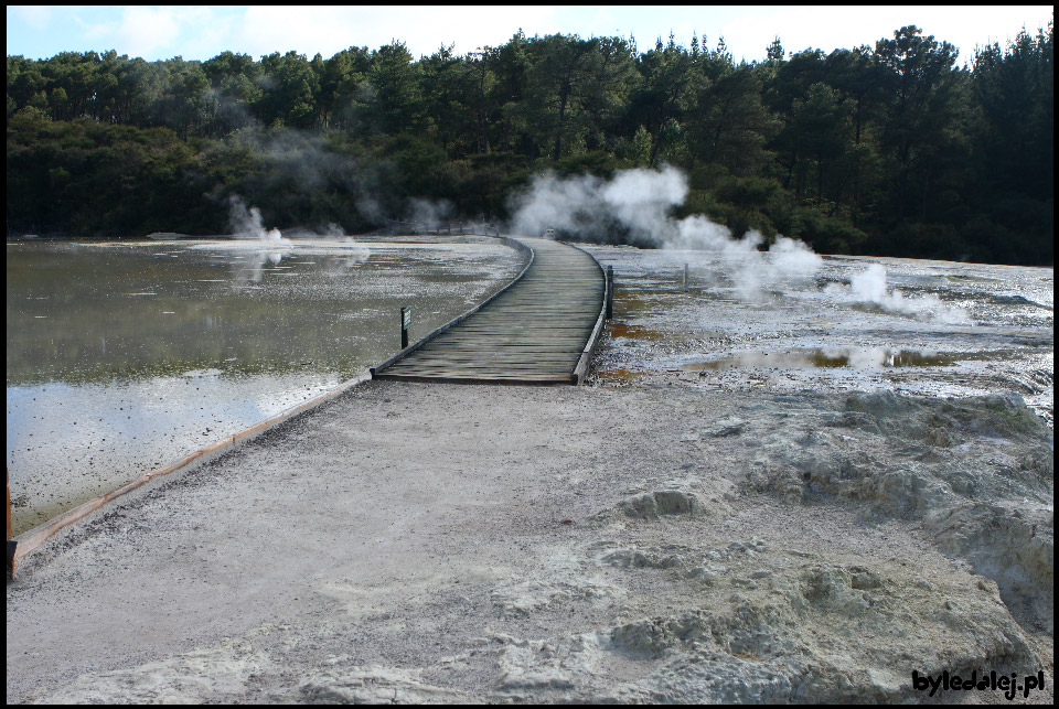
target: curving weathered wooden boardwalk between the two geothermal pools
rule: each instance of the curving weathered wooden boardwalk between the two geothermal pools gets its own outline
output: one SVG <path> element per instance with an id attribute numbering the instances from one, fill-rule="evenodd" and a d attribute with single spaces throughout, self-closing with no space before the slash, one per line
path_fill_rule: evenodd
<path id="1" fill-rule="evenodd" d="M 377 379 L 578 384 L 602 331 L 606 276 L 588 253 L 518 238 L 533 250 L 522 277 L 372 369 Z"/>

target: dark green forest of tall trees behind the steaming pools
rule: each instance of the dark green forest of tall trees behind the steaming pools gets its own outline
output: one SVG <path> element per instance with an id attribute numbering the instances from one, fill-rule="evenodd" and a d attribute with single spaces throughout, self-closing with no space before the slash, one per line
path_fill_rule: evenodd
<path id="1" fill-rule="evenodd" d="M 1003 33 L 1003 29 L 998 29 Z M 515 34 L 415 60 L 8 56 L 8 235 L 364 233 L 428 208 L 502 221 L 535 174 L 673 165 L 740 236 L 824 254 L 1053 264 L 1053 22 L 958 50 L 916 26 L 761 62 L 633 37 Z"/>

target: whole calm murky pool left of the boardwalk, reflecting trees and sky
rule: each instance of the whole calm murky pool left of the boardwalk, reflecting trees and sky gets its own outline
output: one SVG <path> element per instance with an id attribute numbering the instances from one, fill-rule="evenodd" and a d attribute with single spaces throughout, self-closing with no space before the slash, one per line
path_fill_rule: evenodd
<path id="1" fill-rule="evenodd" d="M 506 283 L 484 237 L 7 249 L 13 533 L 378 364 Z"/>

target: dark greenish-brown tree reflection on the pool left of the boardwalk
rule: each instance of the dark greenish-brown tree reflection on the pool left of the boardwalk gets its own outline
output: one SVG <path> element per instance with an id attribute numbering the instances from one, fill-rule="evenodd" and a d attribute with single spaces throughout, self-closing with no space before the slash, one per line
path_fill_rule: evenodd
<path id="1" fill-rule="evenodd" d="M 169 376 L 204 364 L 246 375 L 313 363 L 350 374 L 393 350 L 395 296 L 416 307 L 417 325 L 438 326 L 503 277 L 489 272 L 489 259 L 511 258 L 495 244 L 383 245 L 392 258 L 377 261 L 352 240 L 285 250 L 210 243 L 178 259 L 154 258 L 156 246 L 33 246 L 8 249 L 9 385 Z"/>

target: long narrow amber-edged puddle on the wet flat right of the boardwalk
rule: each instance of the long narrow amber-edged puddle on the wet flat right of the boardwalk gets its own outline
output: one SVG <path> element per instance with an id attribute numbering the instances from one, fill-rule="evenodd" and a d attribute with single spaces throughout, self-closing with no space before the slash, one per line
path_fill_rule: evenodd
<path id="1" fill-rule="evenodd" d="M 923 353 L 910 350 L 804 350 L 800 352 L 738 352 L 719 359 L 684 365 L 688 372 L 742 367 L 782 367 L 794 369 L 823 367 L 948 367 L 960 359 L 960 354 Z"/>

